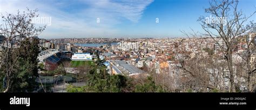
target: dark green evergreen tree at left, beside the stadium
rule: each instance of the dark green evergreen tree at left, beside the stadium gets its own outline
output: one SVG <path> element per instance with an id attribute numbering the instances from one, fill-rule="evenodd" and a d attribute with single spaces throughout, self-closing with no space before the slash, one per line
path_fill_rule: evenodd
<path id="1" fill-rule="evenodd" d="M 19 48 L 21 56 L 18 65 L 15 67 L 15 74 L 12 76 L 12 86 L 10 92 L 32 92 L 37 89 L 37 55 L 39 54 L 38 39 L 25 39 Z"/>

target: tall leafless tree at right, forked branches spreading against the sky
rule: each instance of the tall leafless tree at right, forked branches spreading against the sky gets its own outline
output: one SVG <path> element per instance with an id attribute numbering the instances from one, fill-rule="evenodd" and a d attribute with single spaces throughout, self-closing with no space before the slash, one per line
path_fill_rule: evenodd
<path id="1" fill-rule="evenodd" d="M 233 70 L 232 52 L 242 40 L 241 36 L 248 32 L 249 28 L 245 26 L 246 21 L 255 13 L 254 11 L 250 16 L 246 16 L 238 9 L 238 3 L 238 1 L 228 0 L 211 1 L 210 8 L 205 9 L 205 12 L 221 19 L 217 20 L 217 23 L 210 21 L 208 17 L 199 18 L 201 26 L 206 32 L 205 36 L 210 36 L 220 47 L 220 52 L 225 55 L 230 74 L 230 92 L 235 92 L 234 76 L 237 75 L 237 71 Z"/>

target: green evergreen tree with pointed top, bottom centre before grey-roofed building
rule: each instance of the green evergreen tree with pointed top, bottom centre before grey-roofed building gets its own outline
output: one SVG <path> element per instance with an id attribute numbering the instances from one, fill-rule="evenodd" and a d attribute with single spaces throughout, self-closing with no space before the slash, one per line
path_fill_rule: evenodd
<path id="1" fill-rule="evenodd" d="M 131 90 L 130 80 L 122 75 L 109 75 L 106 73 L 104 60 L 97 54 L 96 65 L 86 74 L 87 83 L 83 87 L 69 86 L 68 92 L 124 92 Z"/>

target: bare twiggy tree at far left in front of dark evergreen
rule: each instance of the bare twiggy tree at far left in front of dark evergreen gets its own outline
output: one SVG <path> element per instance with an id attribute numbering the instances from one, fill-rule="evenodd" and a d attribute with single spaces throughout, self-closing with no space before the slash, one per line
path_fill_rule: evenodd
<path id="1" fill-rule="evenodd" d="M 9 92 L 12 87 L 12 78 L 13 75 L 15 75 L 14 70 L 17 66 L 17 61 L 20 57 L 20 47 L 18 50 L 18 53 L 14 52 L 14 47 L 11 46 L 11 42 L 14 41 L 17 37 L 22 38 L 23 36 L 26 36 L 28 38 L 31 38 L 33 36 L 37 36 L 41 32 L 43 32 L 44 27 L 35 27 L 35 25 L 32 23 L 32 19 L 35 17 L 38 17 L 38 14 L 36 14 L 37 10 L 27 10 L 27 12 L 20 13 L 18 11 L 17 14 L 10 14 L 6 13 L 6 16 L 1 15 L 1 18 L 3 19 L 3 28 L 1 26 L 0 33 L 5 37 L 5 42 L 7 44 L 6 47 L 6 54 L 3 57 L 2 62 L 6 65 L 6 79 L 7 79 L 7 87 L 4 90 L 4 92 Z M 19 43 L 23 44 L 23 41 L 20 39 Z"/>

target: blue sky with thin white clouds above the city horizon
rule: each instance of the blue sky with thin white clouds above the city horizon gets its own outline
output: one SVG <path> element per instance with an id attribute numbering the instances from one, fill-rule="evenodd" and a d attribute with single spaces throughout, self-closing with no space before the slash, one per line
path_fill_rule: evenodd
<path id="1" fill-rule="evenodd" d="M 0 13 L 38 9 L 51 17 L 39 38 L 166 38 L 184 37 L 180 30 L 203 32 L 197 19 L 208 16 L 207 0 L 0 0 Z M 245 14 L 255 11 L 255 0 L 241 0 Z M 99 18 L 100 23 L 97 23 Z M 156 23 L 159 18 L 159 23 Z M 250 20 L 255 20 L 255 15 Z"/>

